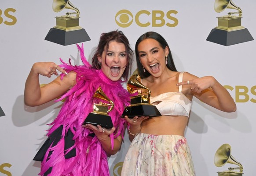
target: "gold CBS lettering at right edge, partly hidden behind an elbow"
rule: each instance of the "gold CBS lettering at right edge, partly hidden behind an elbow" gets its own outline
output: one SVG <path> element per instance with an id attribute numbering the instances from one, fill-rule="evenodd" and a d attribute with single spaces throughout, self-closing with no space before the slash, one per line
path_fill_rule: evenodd
<path id="1" fill-rule="evenodd" d="M 252 88 L 248 88 L 243 85 L 237 85 L 235 88 L 229 85 L 225 85 L 224 88 L 235 91 L 235 102 L 253 102 L 256 103 L 256 99 L 250 98 L 250 95 L 256 95 L 256 85 L 252 86 Z"/>

